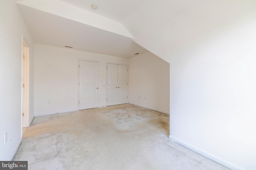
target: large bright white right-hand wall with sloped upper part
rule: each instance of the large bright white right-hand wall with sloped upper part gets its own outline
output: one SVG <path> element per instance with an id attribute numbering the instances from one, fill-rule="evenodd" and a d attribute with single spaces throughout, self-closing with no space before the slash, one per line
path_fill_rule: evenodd
<path id="1" fill-rule="evenodd" d="M 170 63 L 170 139 L 256 169 L 256 1 L 152 0 L 124 25 Z"/>

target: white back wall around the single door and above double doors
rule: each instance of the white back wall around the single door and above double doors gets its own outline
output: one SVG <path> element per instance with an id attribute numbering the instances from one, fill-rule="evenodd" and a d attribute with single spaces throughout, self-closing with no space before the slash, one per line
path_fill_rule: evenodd
<path id="1" fill-rule="evenodd" d="M 106 106 L 106 63 L 128 64 L 121 57 L 40 44 L 34 48 L 35 116 L 78 110 L 78 59 L 100 62 L 100 107 Z"/>

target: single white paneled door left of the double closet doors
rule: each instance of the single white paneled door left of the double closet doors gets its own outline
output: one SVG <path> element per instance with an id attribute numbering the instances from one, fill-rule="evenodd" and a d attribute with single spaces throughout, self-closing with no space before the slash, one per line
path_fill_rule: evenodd
<path id="1" fill-rule="evenodd" d="M 79 109 L 99 107 L 99 63 L 79 61 Z"/>

